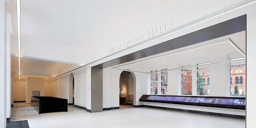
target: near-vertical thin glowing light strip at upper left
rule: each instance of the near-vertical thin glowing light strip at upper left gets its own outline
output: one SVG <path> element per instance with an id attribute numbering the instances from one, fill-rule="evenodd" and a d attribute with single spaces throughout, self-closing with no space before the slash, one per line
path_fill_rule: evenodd
<path id="1" fill-rule="evenodd" d="M 19 57 L 19 77 L 21 80 L 21 1 L 17 0 L 17 25 L 18 25 L 18 57 Z"/>

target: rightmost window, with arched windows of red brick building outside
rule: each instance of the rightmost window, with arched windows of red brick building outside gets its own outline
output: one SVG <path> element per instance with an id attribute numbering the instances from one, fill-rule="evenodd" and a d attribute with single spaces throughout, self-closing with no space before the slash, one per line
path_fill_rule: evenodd
<path id="1" fill-rule="evenodd" d="M 230 63 L 230 70 L 235 73 L 230 73 L 230 96 L 245 96 L 246 89 L 246 65 L 245 61 L 238 61 Z M 239 72 L 239 73 L 238 73 Z M 235 82 L 232 82 L 235 78 Z"/>

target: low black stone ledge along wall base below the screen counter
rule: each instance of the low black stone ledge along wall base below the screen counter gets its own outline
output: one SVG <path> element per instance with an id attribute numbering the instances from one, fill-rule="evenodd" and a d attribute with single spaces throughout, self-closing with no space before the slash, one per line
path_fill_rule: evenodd
<path id="1" fill-rule="evenodd" d="M 187 110 L 187 109 L 176 109 L 176 108 L 167 108 L 167 107 L 150 106 L 150 105 L 134 105 L 134 107 L 147 107 L 147 108 L 155 108 L 155 109 L 165 109 L 165 110 L 196 113 L 196 114 L 202 114 L 202 115 L 211 115 L 211 116 L 218 116 L 218 117 L 245 119 L 245 116 L 241 116 L 241 115 L 232 115 L 232 114 L 216 113 L 216 112 L 196 111 L 196 110 Z"/>

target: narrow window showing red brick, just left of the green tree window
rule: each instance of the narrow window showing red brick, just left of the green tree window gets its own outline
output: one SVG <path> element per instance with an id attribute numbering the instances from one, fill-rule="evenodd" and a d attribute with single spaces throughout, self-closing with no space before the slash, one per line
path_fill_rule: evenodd
<path id="1" fill-rule="evenodd" d="M 181 95 L 192 95 L 191 69 L 181 69 Z"/>

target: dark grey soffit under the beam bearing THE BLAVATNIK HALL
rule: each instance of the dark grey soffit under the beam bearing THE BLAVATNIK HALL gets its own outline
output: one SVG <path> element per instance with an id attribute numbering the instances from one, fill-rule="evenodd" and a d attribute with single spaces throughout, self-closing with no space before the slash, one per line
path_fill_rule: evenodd
<path id="1" fill-rule="evenodd" d="M 151 47 L 121 56 L 93 66 L 94 68 L 108 68 L 129 61 L 141 59 L 144 57 L 156 55 L 173 49 L 186 47 L 203 41 L 212 40 L 229 34 L 234 34 L 246 30 L 246 15 L 227 20 L 225 22 L 203 28 L 201 30 L 186 34 L 169 41 L 165 41 Z"/>

